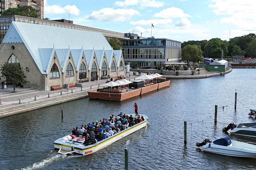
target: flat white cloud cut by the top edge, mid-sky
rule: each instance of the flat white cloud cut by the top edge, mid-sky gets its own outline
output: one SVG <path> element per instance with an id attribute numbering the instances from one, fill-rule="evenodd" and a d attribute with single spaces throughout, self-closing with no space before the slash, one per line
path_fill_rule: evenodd
<path id="1" fill-rule="evenodd" d="M 156 1 L 156 0 L 125 0 L 125 1 L 116 1 L 114 3 L 117 6 L 120 7 L 128 7 L 128 6 L 134 6 L 134 5 L 140 5 L 141 7 L 162 7 L 164 6 L 163 2 Z"/>

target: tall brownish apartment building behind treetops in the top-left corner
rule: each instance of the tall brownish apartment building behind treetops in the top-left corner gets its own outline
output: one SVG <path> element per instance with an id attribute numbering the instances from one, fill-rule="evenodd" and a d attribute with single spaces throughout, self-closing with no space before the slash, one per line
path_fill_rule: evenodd
<path id="1" fill-rule="evenodd" d="M 18 8 L 19 6 L 32 6 L 36 9 L 37 18 L 44 18 L 44 0 L 0 0 L 0 14 L 4 13 L 8 8 Z"/>

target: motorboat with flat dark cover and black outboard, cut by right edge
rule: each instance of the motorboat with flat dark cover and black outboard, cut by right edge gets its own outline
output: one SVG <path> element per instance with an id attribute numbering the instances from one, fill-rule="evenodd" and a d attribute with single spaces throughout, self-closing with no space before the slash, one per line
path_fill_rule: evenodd
<path id="1" fill-rule="evenodd" d="M 223 131 L 229 130 L 230 134 L 256 137 L 256 123 L 245 123 L 245 124 L 239 124 L 238 126 L 236 126 L 236 124 L 234 123 L 231 123 L 226 128 L 223 128 L 222 130 Z"/>

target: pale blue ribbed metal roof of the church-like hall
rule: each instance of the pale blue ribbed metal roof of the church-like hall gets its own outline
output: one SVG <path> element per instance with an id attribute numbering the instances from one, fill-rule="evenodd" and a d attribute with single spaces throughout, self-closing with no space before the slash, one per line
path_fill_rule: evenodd
<path id="1" fill-rule="evenodd" d="M 92 61 L 94 52 L 93 54 L 89 54 L 92 56 L 90 58 L 88 58 L 88 53 L 92 52 L 92 49 L 113 50 L 102 33 L 12 22 L 2 43 L 16 42 L 23 42 L 25 44 L 42 74 L 45 74 L 43 69 L 49 70 L 49 68 L 45 66 L 49 65 L 51 62 L 50 58 L 47 58 L 47 56 L 52 52 L 50 49 L 53 47 L 57 48 L 55 50 L 63 72 L 65 71 L 64 66 L 67 62 L 70 49 L 83 48 L 84 53 L 87 54 L 85 57 L 89 67 L 91 66 L 90 62 Z M 44 52 L 46 55 L 41 54 L 41 52 Z M 43 61 L 41 59 L 42 55 L 44 57 Z"/>

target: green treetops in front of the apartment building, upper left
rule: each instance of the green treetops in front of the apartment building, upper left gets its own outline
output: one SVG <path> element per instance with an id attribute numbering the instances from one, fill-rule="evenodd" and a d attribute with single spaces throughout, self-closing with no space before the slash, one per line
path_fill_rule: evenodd
<path id="1" fill-rule="evenodd" d="M 3 15 L 21 15 L 25 17 L 37 18 L 36 9 L 32 6 L 19 6 L 18 8 L 8 8 Z"/>

